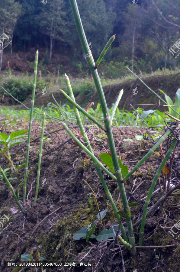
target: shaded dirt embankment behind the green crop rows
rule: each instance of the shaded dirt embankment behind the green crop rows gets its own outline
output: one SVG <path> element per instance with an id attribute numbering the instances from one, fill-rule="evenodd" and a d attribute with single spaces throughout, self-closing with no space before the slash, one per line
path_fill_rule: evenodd
<path id="1" fill-rule="evenodd" d="M 178 88 L 180 88 L 180 72 L 172 73 L 169 75 L 159 75 L 159 76 L 150 76 L 141 78 L 143 82 L 149 86 L 154 92 L 156 92 L 159 96 L 162 97 L 162 99 L 166 100 L 164 95 L 159 91 L 159 89 L 163 90 L 168 96 L 171 97 L 172 101 L 175 101 L 175 93 Z M 136 89 L 137 88 L 137 89 Z M 139 79 L 129 79 L 127 81 L 124 81 L 119 84 L 112 84 L 108 86 L 104 86 L 104 94 L 106 97 L 107 105 L 109 108 L 112 107 L 112 104 L 115 103 L 117 96 L 119 95 L 119 92 L 121 89 L 124 89 L 123 96 L 121 98 L 121 101 L 119 103 L 118 108 L 119 109 L 127 109 L 132 110 L 131 105 L 135 104 L 159 104 L 158 97 L 153 94 Z M 136 89 L 134 92 L 137 94 L 133 94 L 133 89 Z M 69 102 L 64 99 L 64 97 L 59 92 L 54 92 L 53 96 L 55 97 L 56 101 L 61 105 L 63 104 L 70 104 Z M 85 97 L 79 93 L 78 96 L 75 97 L 76 102 L 81 105 L 82 107 L 85 107 L 89 102 L 94 102 L 94 108 L 99 102 L 98 94 L 97 92 L 94 92 L 92 96 Z M 54 99 L 52 97 L 52 94 L 47 94 L 45 96 L 42 96 L 41 93 L 38 93 L 35 96 L 34 106 L 35 107 L 41 107 L 41 106 L 47 106 L 49 102 L 54 102 Z M 163 104 L 162 101 L 160 101 L 161 104 Z M 24 102 L 24 104 L 28 107 L 31 107 L 31 96 L 27 98 L 27 100 Z M 160 111 L 167 110 L 167 107 L 157 107 L 157 106 L 135 106 L 135 108 L 143 108 L 145 110 L 148 109 L 159 109 Z M 24 108 L 22 105 L 20 105 L 18 108 Z"/>

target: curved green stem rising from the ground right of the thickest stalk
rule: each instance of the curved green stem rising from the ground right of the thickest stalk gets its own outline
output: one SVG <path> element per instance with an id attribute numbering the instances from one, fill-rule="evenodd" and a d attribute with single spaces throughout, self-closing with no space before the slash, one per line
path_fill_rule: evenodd
<path id="1" fill-rule="evenodd" d="M 162 168 L 164 167 L 164 165 L 165 165 L 167 159 L 169 158 L 169 156 L 171 155 L 176 143 L 177 142 L 175 141 L 173 144 L 171 144 L 168 151 L 166 152 L 166 155 L 165 155 L 164 159 L 162 160 L 162 163 L 160 164 L 160 166 L 159 166 L 159 168 L 158 168 L 158 170 L 156 172 L 156 175 L 154 176 L 154 180 L 152 182 L 151 188 L 150 188 L 149 193 L 147 195 L 146 202 L 144 204 L 143 217 L 142 217 L 141 228 L 140 228 L 139 246 L 143 245 L 143 235 L 144 235 L 144 226 L 145 226 L 145 222 L 146 222 L 147 207 L 149 205 L 150 198 L 151 198 L 152 193 L 154 191 L 156 181 L 158 180 L 159 175 L 162 172 Z"/>

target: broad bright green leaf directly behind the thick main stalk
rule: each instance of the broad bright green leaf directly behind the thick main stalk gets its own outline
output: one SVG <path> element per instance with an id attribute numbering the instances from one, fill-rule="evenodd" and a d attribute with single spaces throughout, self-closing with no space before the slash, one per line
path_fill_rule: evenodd
<path id="1" fill-rule="evenodd" d="M 103 163 L 105 165 L 107 165 L 109 167 L 109 169 L 111 170 L 111 172 L 114 174 L 114 167 L 113 167 L 111 154 L 110 153 L 102 153 L 99 155 L 99 157 L 101 158 Z M 117 159 L 118 159 L 119 167 L 121 168 L 122 176 L 123 177 L 127 176 L 127 174 L 128 174 L 127 166 L 122 164 L 120 158 L 117 157 Z"/>

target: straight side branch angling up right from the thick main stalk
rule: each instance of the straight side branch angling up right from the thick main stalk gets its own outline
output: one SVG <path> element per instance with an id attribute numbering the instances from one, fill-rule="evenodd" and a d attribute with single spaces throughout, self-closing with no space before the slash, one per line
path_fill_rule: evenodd
<path id="1" fill-rule="evenodd" d="M 162 144 L 162 142 L 166 139 L 166 137 L 169 135 L 169 133 L 171 133 L 170 129 L 168 129 L 159 139 L 159 141 L 147 152 L 146 156 L 144 156 L 138 163 L 137 165 L 133 168 L 132 171 L 130 171 L 130 173 L 128 173 L 124 179 L 123 182 L 125 182 L 140 166 L 141 164 L 143 164 L 143 162 L 153 154 L 153 152 L 156 150 L 156 148 Z"/>

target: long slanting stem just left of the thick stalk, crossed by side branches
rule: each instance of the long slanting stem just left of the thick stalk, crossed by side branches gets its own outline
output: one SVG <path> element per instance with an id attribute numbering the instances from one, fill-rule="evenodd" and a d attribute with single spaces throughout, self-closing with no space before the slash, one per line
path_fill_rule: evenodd
<path id="1" fill-rule="evenodd" d="M 72 92 L 72 88 L 71 88 L 71 83 L 70 83 L 70 81 L 69 81 L 69 77 L 68 77 L 66 74 L 65 74 L 65 82 L 66 82 L 66 87 L 67 87 L 68 92 L 69 92 L 69 96 L 72 98 L 72 100 L 73 100 L 74 102 L 76 102 L 76 101 L 75 101 L 75 98 L 74 98 L 74 95 L 73 95 L 73 92 Z M 88 139 L 87 134 L 86 134 L 86 132 L 85 132 L 85 129 L 84 129 L 83 125 L 82 125 L 82 121 L 81 121 L 81 118 L 80 118 L 80 116 L 79 116 L 78 109 L 77 109 L 75 106 L 73 106 L 73 110 L 74 110 L 74 112 L 75 112 L 76 120 L 77 120 L 77 123 L 78 123 L 78 125 L 79 125 L 80 131 L 81 131 L 82 135 L 84 136 L 84 140 L 85 140 L 85 143 L 86 143 L 86 145 L 87 145 L 87 148 L 88 148 L 88 150 L 94 155 L 93 150 L 92 150 L 92 148 L 91 148 L 91 145 L 90 145 L 90 143 L 89 143 L 89 139 Z M 96 164 L 96 161 L 94 160 L 94 158 L 92 158 L 92 161 L 93 161 L 93 163 L 95 164 L 95 168 L 96 168 L 96 170 L 97 170 L 97 172 L 98 172 L 99 178 L 100 178 L 100 180 L 101 180 L 101 182 L 102 182 L 102 185 L 103 185 L 103 187 L 104 187 L 104 190 L 105 190 L 105 192 L 106 192 L 106 194 L 107 194 L 107 196 L 108 196 L 108 199 L 109 199 L 109 201 L 110 201 L 110 203 L 111 203 L 111 206 L 112 206 L 112 208 L 113 208 L 113 210 L 114 210 L 114 212 L 115 212 L 115 215 L 116 215 L 117 220 L 118 220 L 118 223 L 119 223 L 119 222 L 121 221 L 121 217 L 120 217 L 119 214 L 117 214 L 117 211 L 118 211 L 118 210 L 117 210 L 117 207 L 116 207 L 116 205 L 115 205 L 115 203 L 114 203 L 114 200 L 113 200 L 112 195 L 111 195 L 111 193 L 110 193 L 110 191 L 109 191 L 109 189 L 108 189 L 108 186 L 107 186 L 107 184 L 106 184 L 106 182 L 105 182 L 105 180 L 104 180 L 103 174 L 101 173 L 101 169 L 100 169 L 100 167 Z M 123 235 L 123 237 L 124 237 L 124 240 L 128 241 L 127 235 L 126 235 L 126 232 L 125 232 L 125 229 L 124 229 L 124 225 L 122 224 L 122 222 L 121 222 L 121 226 L 120 226 L 120 227 L 121 227 L 121 233 L 122 233 L 122 235 Z"/>

